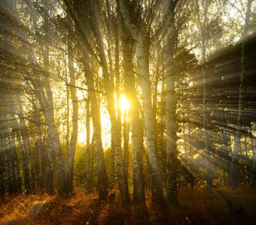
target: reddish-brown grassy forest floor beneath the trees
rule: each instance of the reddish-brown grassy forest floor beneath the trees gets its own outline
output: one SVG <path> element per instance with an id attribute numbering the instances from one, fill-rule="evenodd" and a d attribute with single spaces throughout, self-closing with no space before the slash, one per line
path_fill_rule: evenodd
<path id="1" fill-rule="evenodd" d="M 178 206 L 99 202 L 96 193 L 76 191 L 71 198 L 19 195 L 0 202 L 0 224 L 256 224 L 256 190 L 179 190 Z M 230 206 L 231 205 L 231 206 Z M 231 208 L 230 208 L 231 207 Z"/>

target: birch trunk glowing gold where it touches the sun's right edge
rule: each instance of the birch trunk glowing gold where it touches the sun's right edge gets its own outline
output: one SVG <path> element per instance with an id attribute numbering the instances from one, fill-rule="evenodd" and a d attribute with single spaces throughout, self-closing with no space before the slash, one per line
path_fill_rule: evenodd
<path id="1" fill-rule="evenodd" d="M 131 129 L 133 142 L 133 203 L 145 203 L 145 184 L 143 175 L 143 128 L 139 118 L 139 101 L 136 96 L 133 71 L 132 39 L 129 31 L 123 28 L 123 71 L 126 98 L 130 101 Z"/>

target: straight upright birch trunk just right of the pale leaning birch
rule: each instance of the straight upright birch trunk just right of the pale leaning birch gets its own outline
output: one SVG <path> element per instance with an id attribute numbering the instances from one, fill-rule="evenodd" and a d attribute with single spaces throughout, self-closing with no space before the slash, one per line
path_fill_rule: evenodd
<path id="1" fill-rule="evenodd" d="M 176 175 L 176 121 L 175 121 L 175 3 L 169 5 L 169 28 L 166 55 L 166 202 L 178 205 Z"/>

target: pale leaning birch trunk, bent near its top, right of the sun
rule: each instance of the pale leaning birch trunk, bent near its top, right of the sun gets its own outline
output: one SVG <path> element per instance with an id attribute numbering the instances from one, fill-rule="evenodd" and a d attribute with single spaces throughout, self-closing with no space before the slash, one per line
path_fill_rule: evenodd
<path id="1" fill-rule="evenodd" d="M 157 204 L 163 203 L 163 186 L 160 172 L 159 161 L 156 152 L 156 133 L 154 124 L 154 113 L 151 102 L 151 82 L 148 74 L 148 63 L 145 54 L 145 46 L 142 31 L 132 22 L 130 18 L 130 11 L 128 10 L 128 2 L 120 0 L 120 11 L 123 17 L 123 22 L 126 28 L 130 31 L 136 45 L 136 55 L 139 63 L 139 75 L 142 84 L 142 96 L 143 96 L 143 109 L 145 118 L 145 133 L 147 139 L 148 148 L 148 165 L 151 171 L 151 193 L 152 202 Z"/>

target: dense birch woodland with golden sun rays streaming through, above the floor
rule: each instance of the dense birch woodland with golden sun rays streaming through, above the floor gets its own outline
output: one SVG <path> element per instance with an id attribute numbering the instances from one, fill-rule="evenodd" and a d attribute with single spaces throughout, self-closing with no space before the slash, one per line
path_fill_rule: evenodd
<path id="1" fill-rule="evenodd" d="M 0 199 L 255 190 L 255 31 L 254 0 L 0 1 Z"/>

